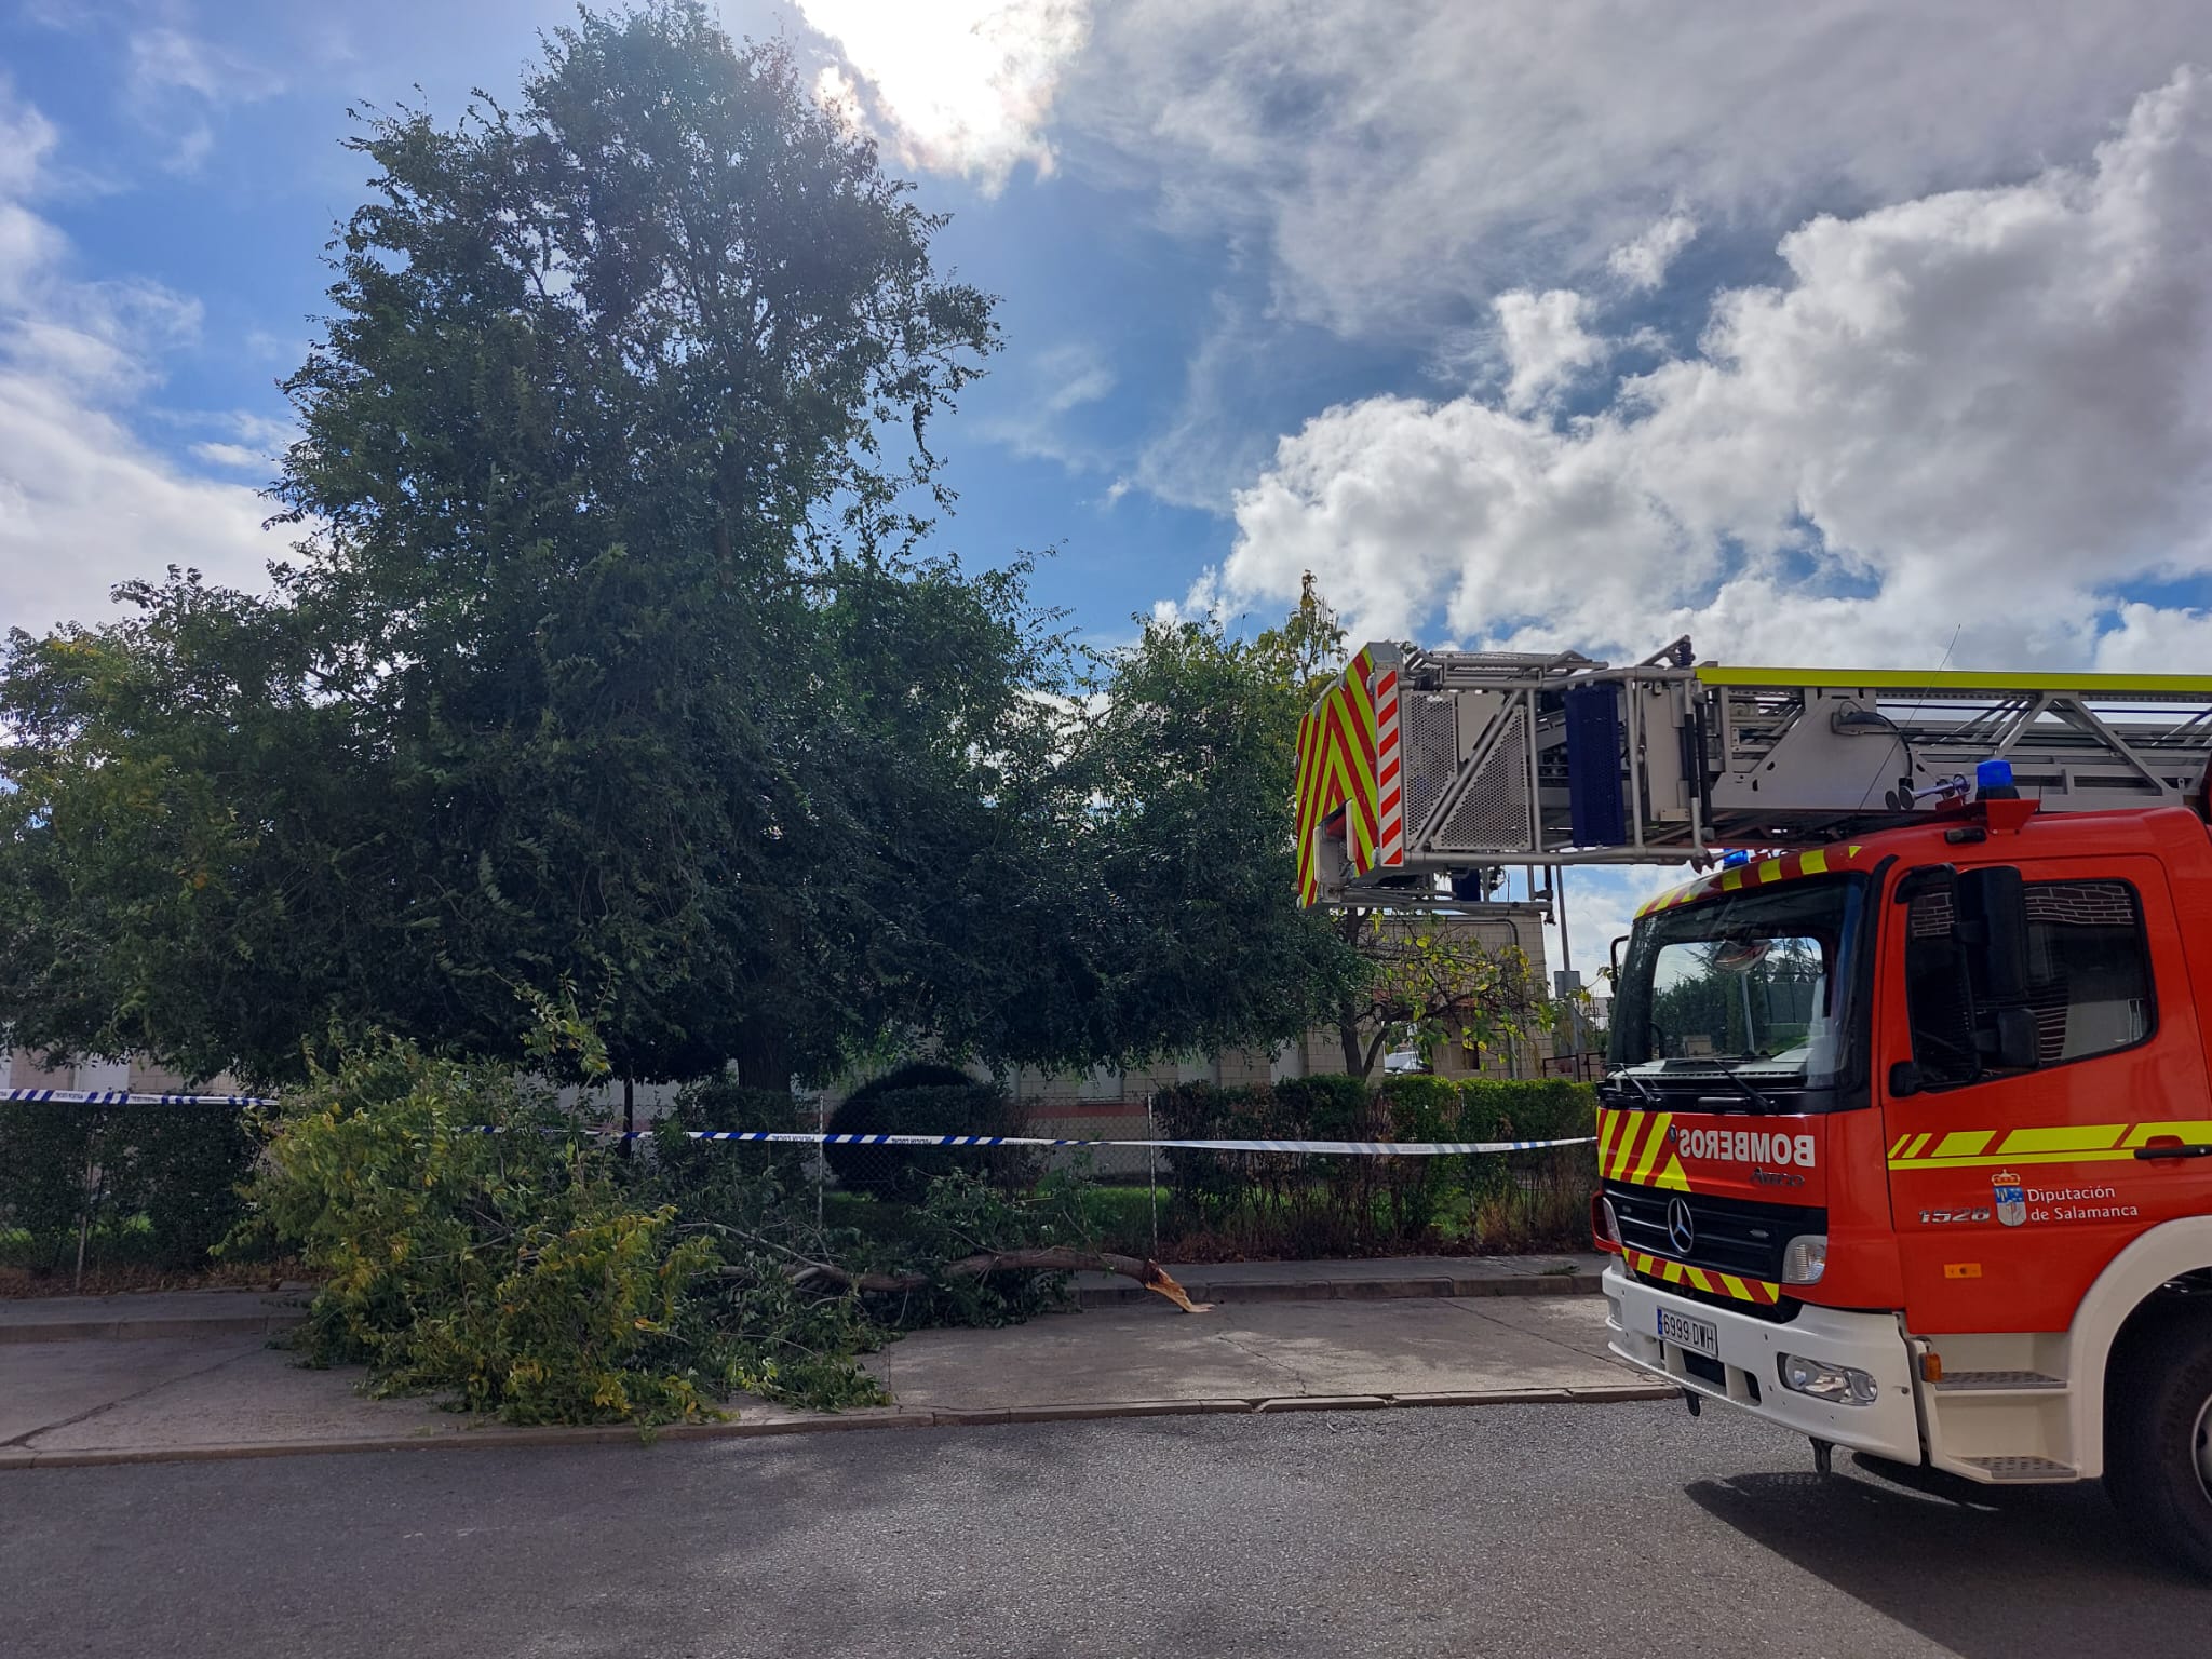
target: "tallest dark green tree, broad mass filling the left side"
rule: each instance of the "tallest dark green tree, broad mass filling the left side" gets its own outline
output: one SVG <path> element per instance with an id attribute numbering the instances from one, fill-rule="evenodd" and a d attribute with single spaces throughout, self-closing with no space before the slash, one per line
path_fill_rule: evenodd
<path id="1" fill-rule="evenodd" d="M 940 221 L 690 0 L 349 146 L 296 562 L 9 641 L 0 1018 L 259 1077 L 369 1024 L 511 1051 L 562 993 L 639 1077 L 978 1026 L 1053 644 L 1020 571 L 918 551 L 995 347 Z"/>

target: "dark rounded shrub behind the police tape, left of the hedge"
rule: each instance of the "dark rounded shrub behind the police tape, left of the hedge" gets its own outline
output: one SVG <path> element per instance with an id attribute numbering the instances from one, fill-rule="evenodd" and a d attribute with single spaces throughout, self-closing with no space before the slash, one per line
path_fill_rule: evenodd
<path id="1" fill-rule="evenodd" d="M 1022 1135 L 1026 1124 L 998 1084 L 927 1062 L 863 1084 L 830 1115 L 832 1135 Z M 982 1172 L 1002 1188 L 1024 1186 L 1037 1170 L 1018 1146 L 825 1146 L 823 1157 L 847 1192 L 900 1203 L 920 1203 L 933 1179 L 956 1170 Z"/>

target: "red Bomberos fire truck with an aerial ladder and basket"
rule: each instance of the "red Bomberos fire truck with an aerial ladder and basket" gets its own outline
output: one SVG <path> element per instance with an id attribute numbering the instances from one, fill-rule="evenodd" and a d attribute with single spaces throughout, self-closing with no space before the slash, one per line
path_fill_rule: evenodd
<path id="1" fill-rule="evenodd" d="M 2212 1573 L 2208 759 L 2197 677 L 1369 646 L 1307 721 L 1301 880 L 1694 865 L 1610 967 L 1613 1352 L 1820 1469 L 2101 1478 Z"/>

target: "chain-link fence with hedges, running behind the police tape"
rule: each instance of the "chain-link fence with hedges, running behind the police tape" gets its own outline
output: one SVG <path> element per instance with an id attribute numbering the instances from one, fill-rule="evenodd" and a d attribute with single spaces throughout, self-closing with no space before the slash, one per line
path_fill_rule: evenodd
<path id="1" fill-rule="evenodd" d="M 619 1084 L 571 1095 L 584 1124 L 681 1128 L 1020 1135 L 1064 1141 L 1157 1139 L 1548 1139 L 1584 1135 L 1586 1084 L 1347 1077 L 1159 1088 L 1124 1099 L 1013 1102 L 960 1079 L 887 1091 L 865 1124 L 849 1102 L 745 1091 Z M 9 1141 L 9 1137 L 13 1137 Z M 188 1267 L 237 1214 L 232 1186 L 252 1155 L 219 1106 L 0 1108 L 0 1267 L 100 1263 Z M 825 1228 L 896 1232 L 933 1177 L 964 1170 L 1035 1194 L 1060 1177 L 1091 1243 L 1164 1261 L 1225 1256 L 1471 1254 L 1575 1248 L 1588 1239 L 1588 1146 L 1471 1157 L 1334 1157 L 1164 1150 L 1152 1146 L 763 1146 L 714 1157 L 776 1168 Z M 197 1186 L 195 1186 L 197 1183 Z M 199 1188 L 206 1188 L 204 1192 Z M 190 1221 L 190 1225 L 186 1225 Z"/>

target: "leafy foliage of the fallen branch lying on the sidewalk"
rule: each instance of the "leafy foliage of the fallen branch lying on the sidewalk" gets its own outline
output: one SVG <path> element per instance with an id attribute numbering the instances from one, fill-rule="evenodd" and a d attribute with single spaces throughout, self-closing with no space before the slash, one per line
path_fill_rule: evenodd
<path id="1" fill-rule="evenodd" d="M 524 1048 L 604 1066 L 560 1018 Z M 714 1104 L 774 1121 L 765 1095 Z M 341 1044 L 259 1130 L 230 1248 L 276 1243 L 323 1279 L 310 1363 L 507 1422 L 650 1427 L 714 1416 L 732 1391 L 878 1405 L 860 1356 L 900 1329 L 1018 1321 L 1062 1301 L 1068 1267 L 1106 1265 L 1064 1183 L 1006 1192 L 947 1170 L 900 1228 L 863 1237 L 821 1225 L 776 1150 L 692 1141 L 670 1117 L 628 1159 L 511 1066 L 392 1037 Z M 1040 1248 L 1082 1259 L 995 1261 Z"/>

